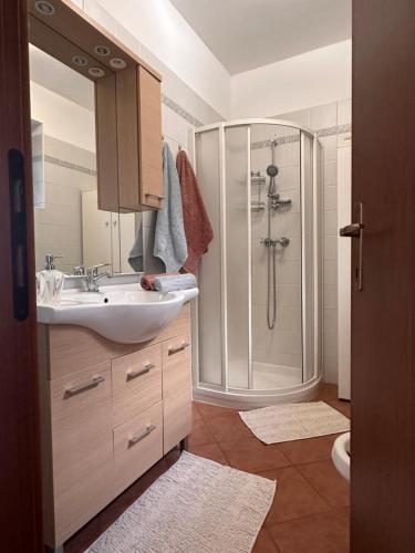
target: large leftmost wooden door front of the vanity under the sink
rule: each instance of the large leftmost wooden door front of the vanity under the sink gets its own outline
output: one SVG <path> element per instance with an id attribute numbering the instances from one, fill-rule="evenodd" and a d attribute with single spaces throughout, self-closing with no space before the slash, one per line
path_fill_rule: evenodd
<path id="1" fill-rule="evenodd" d="M 110 363 L 50 382 L 54 521 L 62 543 L 111 499 Z"/>

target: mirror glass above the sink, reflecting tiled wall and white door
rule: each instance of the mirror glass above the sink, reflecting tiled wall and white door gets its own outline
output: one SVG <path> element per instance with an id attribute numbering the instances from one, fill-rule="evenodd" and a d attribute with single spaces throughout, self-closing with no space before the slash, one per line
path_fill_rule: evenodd
<path id="1" fill-rule="evenodd" d="M 52 253 L 70 274 L 98 263 L 133 272 L 141 213 L 97 208 L 94 83 L 33 45 L 30 76 L 37 271 Z"/>

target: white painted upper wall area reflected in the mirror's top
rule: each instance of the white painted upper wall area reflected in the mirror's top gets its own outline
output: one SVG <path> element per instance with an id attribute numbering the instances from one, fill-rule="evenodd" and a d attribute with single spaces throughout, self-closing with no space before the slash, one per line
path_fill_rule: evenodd
<path id="1" fill-rule="evenodd" d="M 95 113 L 31 81 L 32 119 L 48 136 L 95 152 Z"/>

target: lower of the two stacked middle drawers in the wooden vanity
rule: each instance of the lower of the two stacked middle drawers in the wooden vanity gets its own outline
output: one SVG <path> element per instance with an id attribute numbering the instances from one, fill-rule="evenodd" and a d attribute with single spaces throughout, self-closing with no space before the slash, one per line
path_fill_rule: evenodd
<path id="1" fill-rule="evenodd" d="M 114 429 L 117 491 L 139 478 L 163 457 L 163 404 L 154 405 Z"/>

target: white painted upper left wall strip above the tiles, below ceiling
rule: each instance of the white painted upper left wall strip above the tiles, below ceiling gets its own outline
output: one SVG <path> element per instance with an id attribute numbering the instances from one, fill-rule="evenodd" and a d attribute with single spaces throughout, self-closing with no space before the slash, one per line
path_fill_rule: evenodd
<path id="1" fill-rule="evenodd" d="M 84 0 L 84 9 L 92 17 L 94 3 L 101 4 L 214 109 L 229 116 L 229 73 L 169 0 Z"/>

